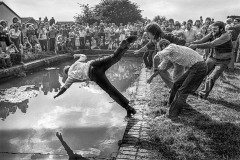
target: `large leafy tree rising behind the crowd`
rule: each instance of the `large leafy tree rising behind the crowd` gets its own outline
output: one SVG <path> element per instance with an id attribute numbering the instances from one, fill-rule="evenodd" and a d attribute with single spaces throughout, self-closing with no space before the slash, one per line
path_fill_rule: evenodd
<path id="1" fill-rule="evenodd" d="M 143 21 L 141 10 L 136 3 L 129 0 L 102 0 L 94 7 L 88 4 L 79 4 L 82 8 L 81 14 L 75 16 L 80 23 L 111 22 L 115 24 L 127 24 L 128 22 Z"/>

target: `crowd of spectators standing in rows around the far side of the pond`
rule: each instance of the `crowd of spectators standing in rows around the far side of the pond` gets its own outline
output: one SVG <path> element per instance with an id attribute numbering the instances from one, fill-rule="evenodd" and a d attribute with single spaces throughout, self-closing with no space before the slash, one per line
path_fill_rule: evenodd
<path id="1" fill-rule="evenodd" d="M 138 40 L 131 49 L 139 49 L 148 42 L 144 34 L 145 23 L 105 23 L 102 20 L 98 24 L 56 24 L 54 18 L 49 21 L 41 21 L 38 24 L 21 24 L 17 18 L 8 26 L 6 21 L 0 22 L 0 68 L 11 67 L 22 63 L 22 56 L 27 54 L 59 54 L 69 50 L 78 49 L 116 49 L 119 43 L 130 35 L 137 35 Z M 189 19 L 180 23 L 174 19 L 157 23 L 164 32 L 172 33 L 186 40 L 186 45 L 201 39 L 210 32 L 210 25 L 214 19 L 200 17 L 193 22 Z M 232 30 L 233 41 L 237 42 L 240 32 L 240 20 L 238 18 L 226 20 L 226 30 Z M 236 45 L 236 43 L 235 43 Z M 239 44 L 238 44 L 239 45 Z M 198 52 L 207 56 L 209 50 Z"/>

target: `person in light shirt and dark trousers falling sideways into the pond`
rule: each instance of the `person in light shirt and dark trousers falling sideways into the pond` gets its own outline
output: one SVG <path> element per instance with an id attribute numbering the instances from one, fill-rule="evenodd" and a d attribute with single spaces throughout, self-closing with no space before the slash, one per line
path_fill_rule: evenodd
<path id="1" fill-rule="evenodd" d="M 119 105 L 127 111 L 127 117 L 136 114 L 136 110 L 129 105 L 129 100 L 125 98 L 108 80 L 106 77 L 106 70 L 112 65 L 117 63 L 124 53 L 130 48 L 130 44 L 137 40 L 136 36 L 130 36 L 123 40 L 120 46 L 114 51 L 113 54 L 83 62 L 87 57 L 83 54 L 75 54 L 74 58 L 79 57 L 71 66 L 65 66 L 63 72 L 68 76 L 65 84 L 61 87 L 60 91 L 54 98 L 63 94 L 75 82 L 96 82 L 109 96 L 115 100 Z"/>

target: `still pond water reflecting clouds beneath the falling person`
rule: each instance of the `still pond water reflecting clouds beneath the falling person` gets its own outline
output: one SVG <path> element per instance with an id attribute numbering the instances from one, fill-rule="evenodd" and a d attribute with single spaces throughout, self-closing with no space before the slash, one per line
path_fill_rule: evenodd
<path id="1" fill-rule="evenodd" d="M 75 83 L 53 98 L 66 80 L 63 67 L 72 63 L 42 68 L 1 83 L 0 157 L 68 159 L 56 132 L 62 133 L 74 153 L 84 157 L 110 157 L 118 150 L 127 124 L 126 111 L 100 87 Z M 131 99 L 140 69 L 141 59 L 123 58 L 106 74 Z"/>

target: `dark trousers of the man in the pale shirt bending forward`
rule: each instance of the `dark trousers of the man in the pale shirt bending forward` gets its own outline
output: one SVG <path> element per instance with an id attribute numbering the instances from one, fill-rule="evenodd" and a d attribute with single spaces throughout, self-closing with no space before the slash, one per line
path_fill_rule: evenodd
<path id="1" fill-rule="evenodd" d="M 168 102 L 170 105 L 170 117 L 178 116 L 182 106 L 186 103 L 188 95 L 200 86 L 206 74 L 206 63 L 198 62 L 190 67 L 188 71 L 173 84 Z"/>

